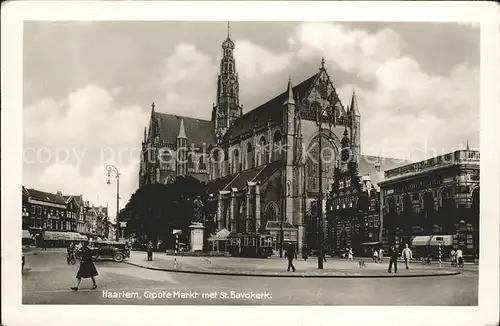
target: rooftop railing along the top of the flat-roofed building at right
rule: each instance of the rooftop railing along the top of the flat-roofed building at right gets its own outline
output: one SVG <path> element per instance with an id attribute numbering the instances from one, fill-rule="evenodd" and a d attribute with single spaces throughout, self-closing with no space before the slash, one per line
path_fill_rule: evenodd
<path id="1" fill-rule="evenodd" d="M 385 178 L 394 178 L 412 173 L 419 173 L 427 170 L 436 169 L 444 166 L 451 166 L 457 163 L 474 162 L 479 163 L 479 152 L 472 150 L 459 150 L 431 159 L 420 161 L 413 164 L 404 165 L 384 172 Z"/>

